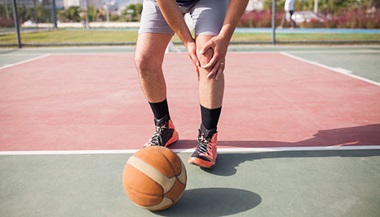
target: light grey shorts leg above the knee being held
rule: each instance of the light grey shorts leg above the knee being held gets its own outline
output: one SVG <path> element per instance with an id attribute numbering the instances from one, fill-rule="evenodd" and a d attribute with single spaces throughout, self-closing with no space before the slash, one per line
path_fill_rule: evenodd
<path id="1" fill-rule="evenodd" d="M 229 0 L 199 0 L 191 9 L 196 35 L 219 34 L 226 16 Z"/>

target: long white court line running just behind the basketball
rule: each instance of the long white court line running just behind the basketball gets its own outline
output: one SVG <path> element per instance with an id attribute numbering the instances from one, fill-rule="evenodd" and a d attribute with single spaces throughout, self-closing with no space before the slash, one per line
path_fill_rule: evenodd
<path id="1" fill-rule="evenodd" d="M 64 151 L 0 151 L 0 156 L 11 155 L 87 155 L 87 154 L 133 154 L 139 149 L 130 150 L 64 150 Z M 192 153 L 191 149 L 172 149 L 176 153 Z M 307 147 L 273 147 L 273 148 L 219 148 L 218 153 L 262 153 L 285 151 L 349 151 L 380 150 L 380 145 L 370 146 L 307 146 Z"/>

